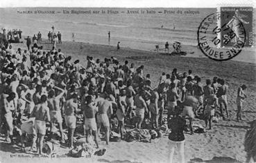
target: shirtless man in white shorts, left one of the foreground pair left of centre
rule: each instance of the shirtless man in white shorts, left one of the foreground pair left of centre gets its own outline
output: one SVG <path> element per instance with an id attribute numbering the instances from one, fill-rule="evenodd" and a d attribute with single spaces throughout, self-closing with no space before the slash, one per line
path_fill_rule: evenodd
<path id="1" fill-rule="evenodd" d="M 94 136 L 94 141 L 96 143 L 97 148 L 99 148 L 99 137 L 97 133 L 97 125 L 95 114 L 98 111 L 98 108 L 94 106 L 92 101 L 92 96 L 85 97 L 86 104 L 82 105 L 83 109 L 83 116 L 85 117 L 85 135 L 86 135 L 86 142 L 88 143 L 89 135 L 92 131 L 92 135 Z"/>

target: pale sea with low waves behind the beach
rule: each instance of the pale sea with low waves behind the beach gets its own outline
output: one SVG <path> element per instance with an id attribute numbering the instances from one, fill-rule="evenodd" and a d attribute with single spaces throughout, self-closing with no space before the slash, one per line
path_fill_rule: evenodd
<path id="1" fill-rule="evenodd" d="M 47 38 L 54 26 L 62 41 L 74 33 L 75 41 L 153 51 L 167 41 L 197 46 L 198 26 L 212 13 L 216 8 L 0 8 L 0 28 Z"/>

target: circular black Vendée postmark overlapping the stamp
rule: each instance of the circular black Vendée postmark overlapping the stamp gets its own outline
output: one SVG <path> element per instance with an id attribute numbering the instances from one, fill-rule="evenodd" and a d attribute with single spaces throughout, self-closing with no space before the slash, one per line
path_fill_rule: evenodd
<path id="1" fill-rule="evenodd" d="M 198 47 L 204 55 L 215 61 L 226 61 L 239 55 L 246 42 L 243 23 L 237 21 L 230 27 L 229 22 L 218 24 L 216 14 L 205 17 L 197 31 Z M 230 45 L 225 47 L 225 45 Z"/>

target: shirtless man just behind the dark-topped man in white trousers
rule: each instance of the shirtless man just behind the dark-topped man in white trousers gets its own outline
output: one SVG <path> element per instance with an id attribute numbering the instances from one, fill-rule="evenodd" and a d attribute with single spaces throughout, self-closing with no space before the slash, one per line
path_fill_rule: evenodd
<path id="1" fill-rule="evenodd" d="M 167 90 L 167 109 L 168 115 L 167 120 L 169 121 L 171 117 L 171 113 L 173 113 L 173 109 L 177 106 L 177 100 L 180 96 L 177 93 L 176 84 L 171 83 L 169 86 L 169 90 Z"/>

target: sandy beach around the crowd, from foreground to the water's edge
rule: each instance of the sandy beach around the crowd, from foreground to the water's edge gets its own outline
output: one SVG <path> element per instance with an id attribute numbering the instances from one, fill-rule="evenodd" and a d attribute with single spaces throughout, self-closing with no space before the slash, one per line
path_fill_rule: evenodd
<path id="1" fill-rule="evenodd" d="M 25 49 L 25 44 L 12 44 L 15 49 L 21 47 Z M 48 43 L 40 44 L 44 49 L 51 49 Z M 85 44 L 79 42 L 65 41 L 57 44 L 66 55 L 71 55 L 72 59 L 80 59 L 80 63 L 85 66 L 87 55 L 94 59 L 104 59 L 105 57 L 116 57 L 122 63 L 128 60 L 135 66 L 144 64 L 145 74 L 150 73 L 153 86 L 157 86 L 157 81 L 162 72 L 171 73 L 173 68 L 178 68 L 178 72 L 183 73 L 193 70 L 194 75 L 205 79 L 212 79 L 214 76 L 225 79 L 228 84 L 228 110 L 230 118 L 214 123 L 212 130 L 207 133 L 185 134 L 185 159 L 186 162 L 245 162 L 246 152 L 244 151 L 244 135 L 248 129 L 247 122 L 256 119 L 255 99 L 256 99 L 256 64 L 241 61 L 213 61 L 206 57 L 179 57 L 159 55 L 156 52 L 134 50 L 122 48 L 117 51 L 114 46 L 103 46 L 96 44 Z M 187 50 L 195 51 L 195 55 L 203 55 L 196 47 L 186 46 Z M 246 54 L 244 54 L 246 55 Z M 243 57 L 243 56 L 237 56 Z M 237 106 L 237 88 L 246 84 L 248 98 L 244 102 L 242 118 L 244 121 L 236 122 L 235 116 Z M 205 125 L 202 120 L 196 119 L 195 124 Z M 68 148 L 58 147 L 59 157 L 33 157 L 28 153 L 22 153 L 18 146 L 10 146 L 0 140 L 0 160 L 1 162 L 167 162 L 169 146 L 168 137 L 157 138 L 151 143 L 144 142 L 110 142 L 108 146 L 100 143 L 100 147 L 106 148 L 105 155 L 93 156 L 91 158 L 71 158 L 65 154 Z M 32 158 L 33 157 L 33 158 Z M 174 159 L 177 160 L 177 155 Z"/>

